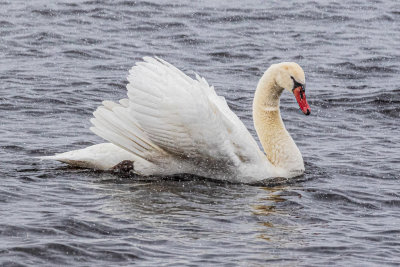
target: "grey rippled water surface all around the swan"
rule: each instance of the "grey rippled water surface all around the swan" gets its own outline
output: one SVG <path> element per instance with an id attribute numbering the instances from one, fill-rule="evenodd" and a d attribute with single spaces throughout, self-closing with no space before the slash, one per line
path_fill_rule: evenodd
<path id="1" fill-rule="evenodd" d="M 400 4 L 0 1 L 0 265 L 400 263 Z M 282 116 L 306 173 L 265 186 L 143 179 L 35 157 L 103 142 L 88 127 L 160 56 L 196 71 L 255 135 L 272 63 L 306 71 L 311 116 Z"/>

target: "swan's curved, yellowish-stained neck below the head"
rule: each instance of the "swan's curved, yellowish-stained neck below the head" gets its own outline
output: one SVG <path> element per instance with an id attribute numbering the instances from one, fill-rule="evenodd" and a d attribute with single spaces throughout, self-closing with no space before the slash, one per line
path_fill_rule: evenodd
<path id="1" fill-rule="evenodd" d="M 279 99 L 283 88 L 275 82 L 276 70 L 261 77 L 253 102 L 253 120 L 268 160 L 288 171 L 304 169 L 303 158 L 283 124 Z"/>

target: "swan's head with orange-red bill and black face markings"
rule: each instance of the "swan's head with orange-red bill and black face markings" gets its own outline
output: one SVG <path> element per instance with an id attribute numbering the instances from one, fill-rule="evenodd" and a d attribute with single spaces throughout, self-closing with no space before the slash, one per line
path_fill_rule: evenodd
<path id="1" fill-rule="evenodd" d="M 310 106 L 306 99 L 306 79 L 303 69 L 294 62 L 283 62 L 276 64 L 277 74 L 275 82 L 278 86 L 292 92 L 296 97 L 301 111 L 310 115 Z"/>

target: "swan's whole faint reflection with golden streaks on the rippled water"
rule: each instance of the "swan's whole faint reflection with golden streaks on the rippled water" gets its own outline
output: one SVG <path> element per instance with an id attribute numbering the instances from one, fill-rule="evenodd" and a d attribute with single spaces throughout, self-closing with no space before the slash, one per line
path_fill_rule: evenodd
<path id="1" fill-rule="evenodd" d="M 103 173 L 92 185 L 107 199 L 101 212 L 123 222 L 124 227 L 133 227 L 135 238 L 138 232 L 157 232 L 157 237 L 151 238 L 165 242 L 171 238 L 221 239 L 256 245 L 262 240 L 270 242 L 261 245 L 267 247 L 297 239 L 300 231 L 293 224 L 293 200 L 287 197 L 288 192 L 296 197 L 293 186 L 260 187 L 189 178 L 126 179 Z"/>

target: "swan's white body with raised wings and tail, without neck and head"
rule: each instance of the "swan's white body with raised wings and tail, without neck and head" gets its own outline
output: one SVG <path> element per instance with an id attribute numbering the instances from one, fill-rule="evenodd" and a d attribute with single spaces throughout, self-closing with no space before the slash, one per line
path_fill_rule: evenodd
<path id="1" fill-rule="evenodd" d="M 189 173 L 233 182 L 294 176 L 268 161 L 204 78 L 145 57 L 128 81 L 128 99 L 103 101 L 91 119 L 90 129 L 112 144 L 46 158 L 102 170 L 130 160 L 145 176 Z"/>

